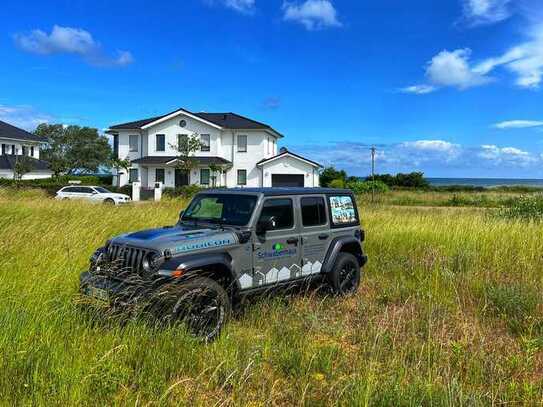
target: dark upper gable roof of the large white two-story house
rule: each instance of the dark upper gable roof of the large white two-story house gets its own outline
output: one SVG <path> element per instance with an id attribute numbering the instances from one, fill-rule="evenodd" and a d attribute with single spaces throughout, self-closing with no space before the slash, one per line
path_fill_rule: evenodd
<path id="1" fill-rule="evenodd" d="M 150 117 L 148 119 L 136 120 L 133 122 L 116 124 L 109 127 L 109 130 L 135 130 L 143 129 L 150 127 L 155 123 L 158 123 L 167 118 L 173 118 L 180 114 L 186 114 L 187 116 L 193 117 L 195 119 L 200 119 L 201 121 L 207 122 L 208 124 L 217 126 L 221 129 L 231 129 L 231 130 L 269 130 L 275 133 L 278 137 L 283 137 L 282 134 L 274 130 L 271 126 L 257 122 L 256 120 L 249 119 L 245 116 L 241 116 L 236 113 L 206 113 L 199 112 L 194 113 L 186 109 L 177 109 L 173 112 L 164 114 L 162 116 Z"/>

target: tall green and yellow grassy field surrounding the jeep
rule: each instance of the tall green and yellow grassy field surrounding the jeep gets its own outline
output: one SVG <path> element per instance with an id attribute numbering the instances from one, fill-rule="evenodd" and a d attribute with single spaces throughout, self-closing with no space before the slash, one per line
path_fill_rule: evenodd
<path id="1" fill-rule="evenodd" d="M 182 206 L 0 191 L 0 403 L 543 403 L 541 224 L 362 204 L 357 295 L 255 299 L 210 345 L 85 312 L 78 275 L 93 250 L 172 224 Z"/>

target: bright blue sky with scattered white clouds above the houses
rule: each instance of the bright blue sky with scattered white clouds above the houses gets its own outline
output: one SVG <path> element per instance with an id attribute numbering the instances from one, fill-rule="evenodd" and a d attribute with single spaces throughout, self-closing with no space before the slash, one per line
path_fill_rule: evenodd
<path id="1" fill-rule="evenodd" d="M 234 111 L 351 174 L 539 178 L 542 3 L 4 0 L 0 120 Z"/>

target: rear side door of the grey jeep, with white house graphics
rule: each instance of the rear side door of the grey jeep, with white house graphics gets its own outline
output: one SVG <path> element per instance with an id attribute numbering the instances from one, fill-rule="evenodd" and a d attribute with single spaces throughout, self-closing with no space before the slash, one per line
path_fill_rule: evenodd
<path id="1" fill-rule="evenodd" d="M 309 276 L 320 273 L 332 236 L 326 197 L 309 195 L 299 199 L 302 214 L 302 275 Z"/>

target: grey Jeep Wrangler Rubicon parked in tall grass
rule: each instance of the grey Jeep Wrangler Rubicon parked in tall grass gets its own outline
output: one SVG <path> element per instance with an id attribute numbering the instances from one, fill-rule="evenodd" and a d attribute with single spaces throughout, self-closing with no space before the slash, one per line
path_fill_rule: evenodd
<path id="1" fill-rule="evenodd" d="M 247 294 L 313 279 L 339 295 L 356 291 L 363 240 L 349 190 L 207 190 L 176 225 L 124 234 L 96 250 L 81 292 L 121 309 L 143 302 L 159 320 L 183 321 L 211 340 Z"/>

